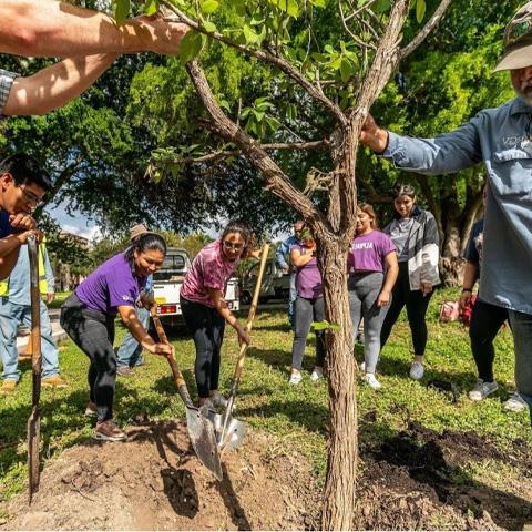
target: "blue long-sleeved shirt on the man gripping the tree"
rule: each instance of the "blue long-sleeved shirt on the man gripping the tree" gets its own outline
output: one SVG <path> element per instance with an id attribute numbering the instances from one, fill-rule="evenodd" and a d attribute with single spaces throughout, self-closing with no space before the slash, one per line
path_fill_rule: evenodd
<path id="1" fill-rule="evenodd" d="M 522 99 L 481 111 L 436 139 L 390 133 L 383 156 L 423 174 L 459 172 L 483 162 L 488 170 L 480 297 L 532 314 L 532 106 Z"/>

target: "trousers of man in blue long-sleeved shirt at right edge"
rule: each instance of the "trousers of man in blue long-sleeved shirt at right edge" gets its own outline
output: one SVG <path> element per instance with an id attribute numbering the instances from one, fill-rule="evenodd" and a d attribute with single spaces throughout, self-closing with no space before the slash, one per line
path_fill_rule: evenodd
<path id="1" fill-rule="evenodd" d="M 532 314 L 509 310 L 515 349 L 515 386 L 531 409 L 532 419 Z"/>

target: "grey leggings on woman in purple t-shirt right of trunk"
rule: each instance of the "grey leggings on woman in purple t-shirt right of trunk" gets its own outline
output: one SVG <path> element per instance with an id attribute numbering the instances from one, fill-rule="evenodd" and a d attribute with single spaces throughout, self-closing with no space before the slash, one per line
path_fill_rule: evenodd
<path id="1" fill-rule="evenodd" d="M 351 314 L 354 338 L 360 319 L 364 317 L 364 360 L 366 372 L 375 374 L 380 352 L 380 329 L 388 308 L 378 307 L 385 275 L 380 272 L 364 272 L 349 277 L 349 309 Z M 391 296 L 390 296 L 391 303 Z"/>

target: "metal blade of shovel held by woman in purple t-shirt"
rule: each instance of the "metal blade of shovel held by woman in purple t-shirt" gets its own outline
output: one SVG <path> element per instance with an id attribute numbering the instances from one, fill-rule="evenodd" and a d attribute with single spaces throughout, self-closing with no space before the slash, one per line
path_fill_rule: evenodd
<path id="1" fill-rule="evenodd" d="M 186 428 L 200 461 L 216 477 L 224 478 L 213 423 L 195 407 L 186 407 Z"/>

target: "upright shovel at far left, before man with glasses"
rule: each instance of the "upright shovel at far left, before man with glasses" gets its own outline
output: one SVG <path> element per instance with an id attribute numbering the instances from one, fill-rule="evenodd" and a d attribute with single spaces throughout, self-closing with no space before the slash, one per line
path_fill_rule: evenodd
<path id="1" fill-rule="evenodd" d="M 39 442 L 41 439 L 41 294 L 39 293 L 39 245 L 35 236 L 28 237 L 28 255 L 30 258 L 30 299 L 31 299 L 31 369 L 33 389 L 31 396 L 31 415 L 28 419 L 28 471 L 29 503 L 39 491 Z"/>

